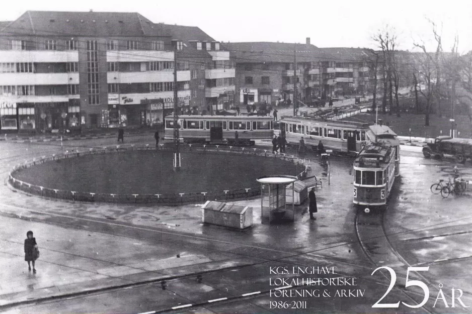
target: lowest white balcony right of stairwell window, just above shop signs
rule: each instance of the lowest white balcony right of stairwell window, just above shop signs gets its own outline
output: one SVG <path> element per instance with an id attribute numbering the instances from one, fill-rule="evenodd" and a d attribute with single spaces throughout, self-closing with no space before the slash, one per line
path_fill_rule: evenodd
<path id="1" fill-rule="evenodd" d="M 179 100 L 190 100 L 190 90 L 179 90 L 177 91 L 177 97 Z M 164 102 L 174 102 L 174 91 L 160 91 L 160 92 L 149 92 L 149 93 L 114 93 L 108 94 L 108 104 L 141 104 L 148 100 L 160 99 Z"/>

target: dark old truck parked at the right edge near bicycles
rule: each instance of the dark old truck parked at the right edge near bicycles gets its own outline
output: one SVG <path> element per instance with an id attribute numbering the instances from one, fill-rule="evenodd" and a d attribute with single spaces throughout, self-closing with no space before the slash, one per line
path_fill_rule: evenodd
<path id="1" fill-rule="evenodd" d="M 453 155 L 457 162 L 464 163 L 468 158 L 472 158 L 472 139 L 438 136 L 434 142 L 423 147 L 423 155 L 426 158 L 442 158 L 444 154 Z"/>

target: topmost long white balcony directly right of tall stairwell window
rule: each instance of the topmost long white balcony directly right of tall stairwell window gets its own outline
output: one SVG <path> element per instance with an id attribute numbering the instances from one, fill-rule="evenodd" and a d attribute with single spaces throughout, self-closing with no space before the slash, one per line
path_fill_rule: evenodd
<path id="1" fill-rule="evenodd" d="M 173 51 L 108 50 L 107 62 L 174 61 Z"/>

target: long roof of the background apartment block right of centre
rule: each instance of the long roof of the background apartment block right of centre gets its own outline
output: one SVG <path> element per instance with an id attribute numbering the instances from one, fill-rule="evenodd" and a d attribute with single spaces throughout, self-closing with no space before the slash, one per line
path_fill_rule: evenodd
<path id="1" fill-rule="evenodd" d="M 227 49 L 232 51 L 241 62 L 293 62 L 295 54 L 294 43 L 274 42 L 244 42 L 227 43 Z M 361 48 L 318 48 L 311 44 L 296 44 L 298 62 L 311 61 L 358 61 L 366 56 Z"/>

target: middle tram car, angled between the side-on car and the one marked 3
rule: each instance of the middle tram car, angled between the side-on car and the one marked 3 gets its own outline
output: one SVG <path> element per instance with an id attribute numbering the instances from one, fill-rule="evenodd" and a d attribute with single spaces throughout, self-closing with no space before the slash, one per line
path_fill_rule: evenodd
<path id="1" fill-rule="evenodd" d="M 287 144 L 298 144 L 301 137 L 306 146 L 316 150 L 322 141 L 325 149 L 355 155 L 367 144 L 369 123 L 328 121 L 308 117 L 282 117 L 280 132 Z"/>

